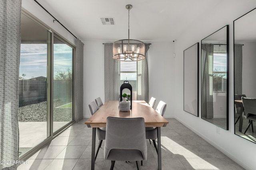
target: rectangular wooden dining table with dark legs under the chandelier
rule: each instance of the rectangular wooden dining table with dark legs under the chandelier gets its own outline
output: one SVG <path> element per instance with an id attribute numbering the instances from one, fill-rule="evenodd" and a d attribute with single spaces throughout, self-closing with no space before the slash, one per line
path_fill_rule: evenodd
<path id="1" fill-rule="evenodd" d="M 92 128 L 91 170 L 94 170 L 95 164 L 96 128 L 106 127 L 106 119 L 109 116 L 122 118 L 143 117 L 145 127 L 156 127 L 158 143 L 158 170 L 162 170 L 161 127 L 166 127 L 169 122 L 154 108 L 150 107 L 150 105 L 144 100 L 132 100 L 132 109 L 129 111 L 120 111 L 118 100 L 108 101 L 104 103 L 89 119 L 86 120 L 85 124 Z"/>

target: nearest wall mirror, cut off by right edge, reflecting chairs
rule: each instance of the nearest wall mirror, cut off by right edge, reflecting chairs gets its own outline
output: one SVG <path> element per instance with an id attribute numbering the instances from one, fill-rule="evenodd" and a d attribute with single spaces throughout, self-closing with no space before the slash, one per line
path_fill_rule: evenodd
<path id="1" fill-rule="evenodd" d="M 234 123 L 235 134 L 256 143 L 256 123 L 246 131 L 241 96 L 256 98 L 256 8 L 234 20 Z M 255 111 L 256 112 L 256 111 Z M 254 112 L 254 113 L 255 113 Z M 246 133 L 245 133 L 246 131 Z"/>

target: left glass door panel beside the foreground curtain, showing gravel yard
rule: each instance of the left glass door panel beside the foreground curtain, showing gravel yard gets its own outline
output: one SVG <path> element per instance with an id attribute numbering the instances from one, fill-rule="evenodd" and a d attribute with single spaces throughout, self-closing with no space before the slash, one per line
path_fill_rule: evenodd
<path id="1" fill-rule="evenodd" d="M 47 135 L 47 60 L 51 33 L 21 15 L 19 68 L 20 156 L 41 143 Z"/>

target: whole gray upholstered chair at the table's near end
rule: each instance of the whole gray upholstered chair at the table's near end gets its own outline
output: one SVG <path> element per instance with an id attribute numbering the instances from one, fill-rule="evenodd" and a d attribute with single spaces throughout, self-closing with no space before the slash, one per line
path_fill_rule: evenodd
<path id="1" fill-rule="evenodd" d="M 145 123 L 143 117 L 108 117 L 106 122 L 106 140 L 104 159 L 111 160 L 113 170 L 116 160 L 136 161 L 147 159 Z"/>

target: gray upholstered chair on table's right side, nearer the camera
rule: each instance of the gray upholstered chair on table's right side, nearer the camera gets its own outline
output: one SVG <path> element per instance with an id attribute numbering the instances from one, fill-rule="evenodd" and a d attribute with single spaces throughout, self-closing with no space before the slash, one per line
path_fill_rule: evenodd
<path id="1" fill-rule="evenodd" d="M 160 101 L 156 107 L 156 111 L 164 116 L 165 110 L 166 110 L 166 103 L 163 101 Z M 156 152 L 157 151 L 157 147 L 156 147 L 156 139 L 157 139 L 157 129 L 156 127 L 146 127 L 146 139 L 152 139 L 154 147 L 156 148 Z M 151 142 L 150 142 L 151 143 Z"/>

